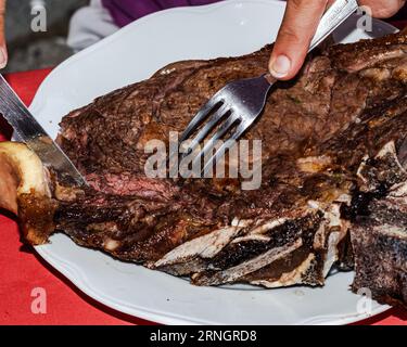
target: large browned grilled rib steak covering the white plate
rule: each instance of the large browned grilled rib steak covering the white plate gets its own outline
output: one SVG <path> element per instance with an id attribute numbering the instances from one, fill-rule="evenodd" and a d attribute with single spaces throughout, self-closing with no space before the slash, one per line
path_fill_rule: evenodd
<path id="1" fill-rule="evenodd" d="M 226 82 L 263 74 L 270 49 L 175 63 L 64 117 L 58 141 L 91 188 L 53 176 L 55 230 L 198 285 L 323 285 L 355 261 L 355 291 L 406 303 L 405 33 L 317 53 L 272 91 L 246 134 L 263 141 L 259 190 L 144 176 L 144 144 L 181 132 Z"/>

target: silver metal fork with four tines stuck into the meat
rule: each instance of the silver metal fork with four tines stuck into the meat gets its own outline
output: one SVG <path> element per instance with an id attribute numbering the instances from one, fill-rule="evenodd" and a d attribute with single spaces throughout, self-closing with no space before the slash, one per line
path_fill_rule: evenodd
<path id="1" fill-rule="evenodd" d="M 357 8 L 356 0 L 336 0 L 323 14 L 308 52 L 314 50 L 345 22 Z M 215 127 L 219 126 L 218 130 L 205 142 L 204 147 L 194 158 L 194 163 L 195 160 L 201 160 L 202 157 L 207 159 L 204 163 L 204 175 L 262 114 L 266 105 L 267 95 L 276 81 L 277 79 L 270 74 L 265 74 L 257 78 L 232 81 L 212 97 L 193 117 L 179 139 L 180 145 L 186 140 L 191 140 L 186 155 L 194 151 L 214 131 Z M 205 120 L 207 120 L 206 124 L 204 124 Z M 193 139 L 189 139 L 196 131 L 198 134 Z M 213 154 L 216 143 L 231 131 L 233 132 L 229 139 Z M 206 158 L 209 151 L 212 151 L 213 155 Z"/>

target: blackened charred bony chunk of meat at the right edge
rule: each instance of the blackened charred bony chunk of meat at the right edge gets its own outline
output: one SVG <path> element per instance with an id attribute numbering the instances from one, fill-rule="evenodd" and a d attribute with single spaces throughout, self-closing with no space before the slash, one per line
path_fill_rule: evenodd
<path id="1" fill-rule="evenodd" d="M 355 254 L 354 292 L 369 290 L 381 303 L 407 303 L 407 171 L 389 142 L 359 168 L 361 189 L 371 198 L 351 229 Z M 380 195 L 378 195 L 380 192 Z"/>

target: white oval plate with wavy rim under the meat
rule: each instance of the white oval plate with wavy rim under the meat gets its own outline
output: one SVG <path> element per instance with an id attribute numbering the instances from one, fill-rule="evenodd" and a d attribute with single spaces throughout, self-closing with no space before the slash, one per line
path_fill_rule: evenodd
<path id="1" fill-rule="evenodd" d="M 56 136 L 58 124 L 67 112 L 148 78 L 167 63 L 240 55 L 274 41 L 284 5 L 270 0 L 233 0 L 143 17 L 55 68 L 30 110 Z M 369 37 L 353 28 L 354 24 L 347 24 L 336 36 L 344 41 Z M 376 33 L 389 31 L 394 28 L 376 22 Z M 352 272 L 329 277 L 322 288 L 196 287 L 79 247 L 63 234 L 51 241 L 36 247 L 37 252 L 78 288 L 118 311 L 160 323 L 345 324 L 387 309 L 376 301 L 364 305 L 361 297 L 351 293 Z"/>

